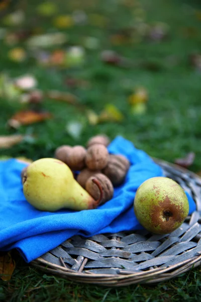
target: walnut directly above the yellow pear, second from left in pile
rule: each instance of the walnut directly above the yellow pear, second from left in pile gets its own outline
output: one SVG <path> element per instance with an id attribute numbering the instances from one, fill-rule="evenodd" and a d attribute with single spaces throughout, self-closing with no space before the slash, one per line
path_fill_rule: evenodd
<path id="1" fill-rule="evenodd" d="M 83 146 L 74 146 L 66 158 L 66 164 L 72 170 L 81 170 L 85 167 L 86 149 Z"/>

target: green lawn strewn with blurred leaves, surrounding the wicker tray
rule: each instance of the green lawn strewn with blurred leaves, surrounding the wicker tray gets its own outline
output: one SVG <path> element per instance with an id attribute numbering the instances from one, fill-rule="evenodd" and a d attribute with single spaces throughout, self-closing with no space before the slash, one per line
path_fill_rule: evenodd
<path id="1" fill-rule="evenodd" d="M 20 10 L 24 17 L 18 13 L 17 24 L 1 17 L 0 75 L 1 79 L 6 76 L 15 79 L 29 74 L 36 79 L 37 89 L 46 94 L 52 90 L 70 93 L 79 105 L 59 102 L 47 95 L 40 104 L 22 103 L 19 102 L 22 93 L 9 98 L 1 94 L 0 87 L 0 134 L 26 136 L 21 143 L 0 149 L 0 156 L 24 156 L 32 160 L 53 157 L 56 147 L 62 144 L 85 145 L 92 135 L 105 133 L 111 140 L 122 135 L 150 156 L 171 163 L 194 152 L 195 160 L 189 169 L 198 173 L 201 170 L 199 2 L 59 0 L 55 3 L 57 12 L 53 9 L 51 14 L 50 1 L 42 3 L 43 6 L 39 6 L 40 1 L 14 2 L 11 11 Z M 64 21 L 63 15 L 68 16 Z M 160 31 L 157 36 L 156 25 Z M 67 40 L 48 49 L 31 48 L 28 44 L 36 34 L 53 32 L 63 33 Z M 59 64 L 58 59 L 55 64 L 42 60 L 49 59 L 55 50 L 63 56 L 70 46 L 84 50 L 83 59 L 76 66 Z M 18 48 L 20 58 L 15 56 Z M 102 58 L 104 50 L 115 51 L 118 58 L 125 58 L 123 63 L 121 60 L 107 63 Z M 193 62 L 192 54 L 196 54 Z M 148 95 L 141 111 L 129 102 L 139 87 Z M 87 110 L 82 109 L 89 108 L 96 116 L 107 110 L 108 105 L 113 106 L 112 117 L 97 123 L 91 122 Z M 17 128 L 8 126 L 8 120 L 25 109 L 47 111 L 52 116 Z M 73 131 L 69 130 L 72 124 Z M 170 297 L 172 301 L 201 300 L 199 267 L 156 285 L 114 289 L 46 275 L 25 263 L 17 252 L 12 255 L 16 269 L 9 282 L 0 280 L 2 301 L 157 302 L 169 301 Z"/>

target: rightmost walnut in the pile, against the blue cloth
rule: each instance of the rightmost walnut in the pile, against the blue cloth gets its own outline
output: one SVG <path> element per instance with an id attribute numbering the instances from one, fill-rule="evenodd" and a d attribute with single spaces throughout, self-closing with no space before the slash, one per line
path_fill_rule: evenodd
<path id="1" fill-rule="evenodd" d="M 114 186 L 122 184 L 130 167 L 129 161 L 122 155 L 109 155 L 109 162 L 103 173 L 111 180 Z"/>

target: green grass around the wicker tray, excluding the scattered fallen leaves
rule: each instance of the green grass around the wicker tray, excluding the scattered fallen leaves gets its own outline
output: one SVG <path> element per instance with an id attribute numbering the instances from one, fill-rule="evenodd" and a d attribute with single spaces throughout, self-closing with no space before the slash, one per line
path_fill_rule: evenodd
<path id="1" fill-rule="evenodd" d="M 39 3 L 39 1 L 37 2 Z M 60 69 L 44 68 L 32 58 L 23 63 L 16 63 L 8 58 L 9 46 L 0 40 L 0 70 L 9 77 L 18 77 L 25 73 L 33 74 L 38 80 L 41 90 L 56 89 L 75 94 L 79 101 L 93 109 L 97 114 L 108 103 L 114 104 L 124 114 L 121 123 L 107 122 L 91 126 L 87 118 L 76 108 L 45 99 L 42 109 L 48 110 L 54 118 L 46 122 L 22 126 L 18 130 L 6 126 L 7 120 L 19 109 L 18 102 L 0 99 L 1 120 L 0 134 L 13 133 L 33 134 L 33 141 L 25 141 L 9 149 L 1 149 L 0 155 L 12 157 L 26 156 L 36 160 L 41 157 L 51 157 L 54 150 L 61 144 L 85 144 L 87 139 L 99 132 L 106 133 L 111 139 L 123 135 L 134 142 L 136 147 L 144 149 L 150 156 L 174 162 L 175 158 L 183 157 L 193 151 L 195 161 L 190 170 L 201 170 L 200 135 L 201 107 L 200 81 L 201 72 L 190 66 L 188 57 L 200 49 L 201 22 L 195 17 L 195 10 L 200 10 L 198 1 L 144 0 L 141 7 L 145 13 L 145 22 L 165 22 L 169 25 L 169 35 L 161 42 L 150 42 L 146 39 L 121 45 L 113 45 L 111 34 L 121 28 L 129 27 L 136 20 L 139 11 L 128 8 L 119 2 L 101 1 L 96 7 L 87 4 L 89 1 L 58 1 L 60 14 L 72 12 L 73 9 L 84 10 L 86 13 L 97 13 L 109 18 L 107 26 L 100 28 L 89 24 L 83 27 L 74 26 L 63 32 L 68 34 L 68 45 L 80 45 L 84 37 L 95 36 L 99 47 L 86 49 L 86 61 L 78 68 Z M 77 4 L 77 7 L 76 7 Z M 52 24 L 52 18 L 37 15 L 35 1 L 22 2 L 19 5 L 26 12 L 26 26 L 40 27 L 42 31 L 57 31 Z M 1 25 L 0 27 L 4 27 Z M 13 28 L 10 29 L 14 31 Z M 191 33 L 191 34 L 190 34 Z M 24 42 L 19 44 L 24 47 Z M 17 45 L 18 46 L 18 45 Z M 55 47 L 56 48 L 56 47 Z M 104 49 L 113 49 L 135 62 L 143 61 L 154 64 L 158 70 L 136 66 L 120 68 L 104 64 L 99 59 Z M 28 51 L 28 54 L 29 51 Z M 172 63 L 171 63 L 172 62 Z M 67 77 L 75 77 L 90 83 L 89 88 L 68 88 L 65 85 Z M 133 115 L 128 104 L 128 96 L 137 86 L 147 89 L 149 100 L 144 115 Z M 66 123 L 79 121 L 83 131 L 79 139 L 71 137 L 66 132 Z M 95 285 L 76 284 L 63 280 L 26 264 L 17 253 L 16 270 L 11 281 L 0 281 L 0 300 L 6 301 L 195 301 L 201 300 L 200 268 L 157 285 L 131 285 L 121 288 L 103 288 Z"/>

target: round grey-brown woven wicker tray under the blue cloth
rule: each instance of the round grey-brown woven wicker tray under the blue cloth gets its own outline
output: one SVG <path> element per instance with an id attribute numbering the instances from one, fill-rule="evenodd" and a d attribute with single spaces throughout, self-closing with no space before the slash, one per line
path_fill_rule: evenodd
<path id="1" fill-rule="evenodd" d="M 74 236 L 32 261 L 39 269 L 77 282 L 105 286 L 155 283 L 201 263 L 201 178 L 179 166 L 154 159 L 196 202 L 196 211 L 169 235 L 147 231 Z"/>

